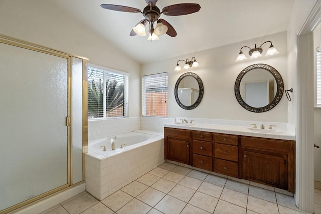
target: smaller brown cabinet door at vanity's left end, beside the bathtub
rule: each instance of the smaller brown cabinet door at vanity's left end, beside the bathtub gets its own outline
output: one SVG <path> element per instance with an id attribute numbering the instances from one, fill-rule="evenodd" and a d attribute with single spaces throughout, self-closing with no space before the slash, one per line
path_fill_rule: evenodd
<path id="1" fill-rule="evenodd" d="M 167 143 L 169 160 L 190 164 L 190 142 L 188 140 L 177 140 L 168 137 Z"/>

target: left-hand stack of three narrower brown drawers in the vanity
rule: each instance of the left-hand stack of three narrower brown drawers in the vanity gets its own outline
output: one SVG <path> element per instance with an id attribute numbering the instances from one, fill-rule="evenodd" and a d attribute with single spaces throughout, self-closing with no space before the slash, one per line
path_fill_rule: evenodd
<path id="1" fill-rule="evenodd" d="M 212 171 L 212 133 L 192 131 L 193 138 L 193 166 Z"/>

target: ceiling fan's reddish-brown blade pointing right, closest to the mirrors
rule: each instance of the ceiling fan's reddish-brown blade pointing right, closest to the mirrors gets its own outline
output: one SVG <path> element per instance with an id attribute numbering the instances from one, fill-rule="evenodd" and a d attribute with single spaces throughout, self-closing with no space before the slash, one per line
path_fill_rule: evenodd
<path id="1" fill-rule="evenodd" d="M 163 8 L 163 13 L 167 16 L 181 16 L 196 13 L 200 9 L 201 6 L 199 4 L 184 3 L 167 6 Z"/>

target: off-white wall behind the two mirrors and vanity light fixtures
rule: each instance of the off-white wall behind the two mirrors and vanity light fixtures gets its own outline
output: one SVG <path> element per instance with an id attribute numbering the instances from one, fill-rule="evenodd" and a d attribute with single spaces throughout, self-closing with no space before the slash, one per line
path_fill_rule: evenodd
<path id="1" fill-rule="evenodd" d="M 242 46 L 254 48 L 265 41 L 272 41 L 280 54 L 272 57 L 261 57 L 258 60 L 235 62 Z M 205 41 L 206 42 L 206 41 Z M 263 54 L 269 48 L 269 43 L 262 46 Z M 247 49 L 243 49 L 246 53 Z M 194 110 L 180 108 L 174 97 L 174 87 L 177 79 L 185 72 L 174 72 L 179 59 L 195 56 L 199 68 L 188 70 L 200 76 L 204 84 L 204 97 Z M 238 103 L 234 94 L 234 84 L 238 74 L 247 66 L 256 63 L 265 63 L 274 67 L 281 74 L 285 88 L 287 84 L 287 47 L 286 32 L 267 35 L 261 38 L 226 45 L 205 51 L 190 53 L 181 57 L 156 61 L 142 65 L 142 75 L 168 72 L 169 73 L 169 117 L 209 118 L 225 120 L 247 120 L 267 122 L 287 122 L 287 99 L 284 95 L 279 104 L 265 113 L 252 113 Z"/>

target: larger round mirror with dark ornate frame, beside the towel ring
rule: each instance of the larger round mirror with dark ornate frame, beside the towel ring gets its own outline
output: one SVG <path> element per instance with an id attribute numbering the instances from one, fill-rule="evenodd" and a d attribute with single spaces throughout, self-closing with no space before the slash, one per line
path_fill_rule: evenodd
<path id="1" fill-rule="evenodd" d="M 273 109 L 279 103 L 284 83 L 280 73 L 272 66 L 253 64 L 238 75 L 234 91 L 244 109 L 261 113 Z"/>

